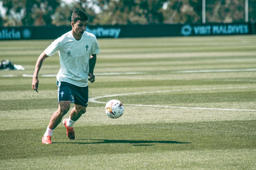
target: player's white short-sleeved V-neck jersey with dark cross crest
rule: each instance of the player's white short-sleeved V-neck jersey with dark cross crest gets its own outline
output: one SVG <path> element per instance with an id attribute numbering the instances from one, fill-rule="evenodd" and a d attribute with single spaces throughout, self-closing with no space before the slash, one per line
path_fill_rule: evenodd
<path id="1" fill-rule="evenodd" d="M 61 69 L 56 78 L 59 82 L 67 82 L 79 87 L 88 86 L 89 59 L 92 54 L 99 54 L 96 37 L 84 32 L 77 41 L 71 31 L 56 39 L 45 49 L 47 56 L 59 51 Z"/>

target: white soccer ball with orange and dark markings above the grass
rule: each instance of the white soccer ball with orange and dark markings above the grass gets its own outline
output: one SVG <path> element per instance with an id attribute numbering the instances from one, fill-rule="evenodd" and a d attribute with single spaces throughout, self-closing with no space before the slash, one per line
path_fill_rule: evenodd
<path id="1" fill-rule="evenodd" d="M 116 119 L 123 115 L 125 108 L 119 100 L 110 100 L 105 106 L 105 112 L 108 117 Z"/>

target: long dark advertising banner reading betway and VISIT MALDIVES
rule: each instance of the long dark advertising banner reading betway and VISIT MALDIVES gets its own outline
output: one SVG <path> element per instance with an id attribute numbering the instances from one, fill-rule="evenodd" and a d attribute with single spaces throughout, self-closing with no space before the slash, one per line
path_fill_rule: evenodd
<path id="1" fill-rule="evenodd" d="M 97 38 L 222 36 L 256 34 L 255 24 L 160 24 L 88 26 L 86 31 Z M 70 26 L 0 27 L 0 40 L 56 39 L 71 30 Z"/>

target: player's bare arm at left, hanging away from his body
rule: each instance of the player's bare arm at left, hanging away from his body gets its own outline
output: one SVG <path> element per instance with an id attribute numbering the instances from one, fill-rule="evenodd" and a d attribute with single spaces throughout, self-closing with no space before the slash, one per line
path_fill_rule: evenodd
<path id="1" fill-rule="evenodd" d="M 38 89 L 38 84 L 39 84 L 38 73 L 39 73 L 41 66 L 43 65 L 43 61 L 47 57 L 48 57 L 47 54 L 45 54 L 45 52 L 43 51 L 43 53 L 40 54 L 40 56 L 38 57 L 38 59 L 36 61 L 35 71 L 34 71 L 33 80 L 32 80 L 32 89 L 36 90 L 36 92 L 38 92 L 37 89 Z"/>

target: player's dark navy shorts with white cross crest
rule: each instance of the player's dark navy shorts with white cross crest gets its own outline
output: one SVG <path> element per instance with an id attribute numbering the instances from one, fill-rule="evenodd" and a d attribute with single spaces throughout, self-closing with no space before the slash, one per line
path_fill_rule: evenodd
<path id="1" fill-rule="evenodd" d="M 58 82 L 58 102 L 70 100 L 71 103 L 87 107 L 88 86 L 79 87 L 67 82 Z"/>

